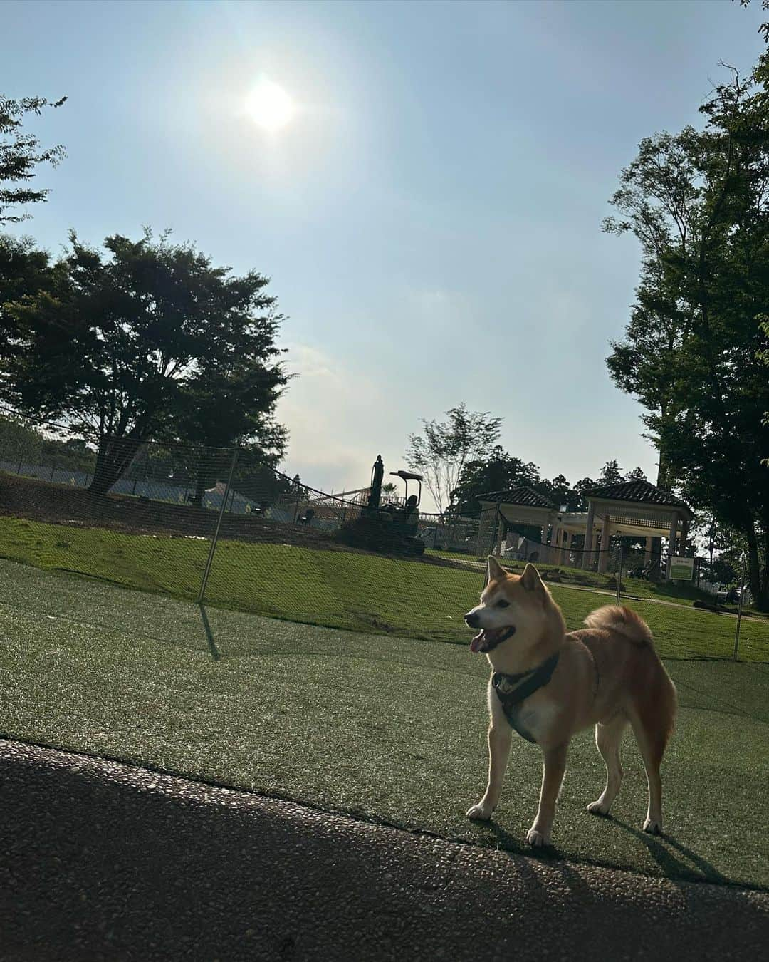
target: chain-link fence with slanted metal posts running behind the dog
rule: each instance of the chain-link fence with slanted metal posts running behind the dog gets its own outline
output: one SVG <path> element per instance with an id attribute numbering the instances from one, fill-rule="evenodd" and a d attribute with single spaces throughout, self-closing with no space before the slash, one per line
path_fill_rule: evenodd
<path id="1" fill-rule="evenodd" d="M 249 450 L 19 430 L 0 439 L 0 555 L 284 620 L 466 644 L 462 616 L 485 556 L 536 564 L 570 629 L 599 605 L 633 607 L 660 650 L 769 656 L 769 620 L 736 579 L 730 595 L 667 579 L 664 553 L 632 540 L 585 550 L 478 516 L 410 513 L 368 491 L 327 494 Z M 531 532 L 529 532 L 531 534 Z M 712 586 L 710 586 L 712 587 Z M 717 587 L 717 586 L 716 586 Z M 738 587 L 734 595 L 735 587 Z"/>

